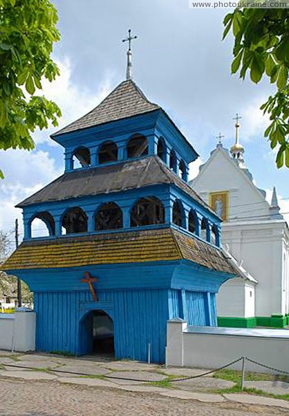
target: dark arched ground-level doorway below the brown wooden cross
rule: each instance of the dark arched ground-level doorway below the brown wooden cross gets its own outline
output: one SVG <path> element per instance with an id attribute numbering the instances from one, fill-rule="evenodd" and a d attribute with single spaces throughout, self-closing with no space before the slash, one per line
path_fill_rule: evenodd
<path id="1" fill-rule="evenodd" d="M 80 324 L 82 354 L 114 355 L 113 320 L 105 311 L 90 311 Z"/>

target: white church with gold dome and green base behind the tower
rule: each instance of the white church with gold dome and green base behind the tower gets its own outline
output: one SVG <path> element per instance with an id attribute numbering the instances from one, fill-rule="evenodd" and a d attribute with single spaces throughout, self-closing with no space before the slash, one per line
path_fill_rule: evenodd
<path id="1" fill-rule="evenodd" d="M 288 224 L 279 213 L 276 190 L 269 204 L 245 168 L 238 130 L 237 117 L 230 152 L 219 142 L 191 182 L 223 218 L 223 247 L 248 272 L 221 286 L 218 325 L 282 328 L 289 324 Z"/>

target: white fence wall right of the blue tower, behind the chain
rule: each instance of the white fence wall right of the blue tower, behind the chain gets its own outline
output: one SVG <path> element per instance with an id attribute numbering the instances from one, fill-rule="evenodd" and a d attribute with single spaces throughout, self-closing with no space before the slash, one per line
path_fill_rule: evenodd
<path id="1" fill-rule="evenodd" d="M 182 320 L 167 324 L 168 365 L 214 369 L 242 356 L 289 372 L 289 331 L 187 327 L 187 322 Z M 241 362 L 230 368 L 240 370 Z M 246 369 L 274 373 L 248 361 Z"/>

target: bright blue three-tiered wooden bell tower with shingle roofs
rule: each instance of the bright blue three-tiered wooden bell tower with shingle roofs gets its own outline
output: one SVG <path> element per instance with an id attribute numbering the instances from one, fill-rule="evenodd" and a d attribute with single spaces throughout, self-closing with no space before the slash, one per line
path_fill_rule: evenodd
<path id="1" fill-rule="evenodd" d="M 221 219 L 187 184 L 198 155 L 131 79 L 52 139 L 64 174 L 19 203 L 24 241 L 4 265 L 35 294 L 37 350 L 91 353 L 99 311 L 116 358 L 144 361 L 151 345 L 162 363 L 167 320 L 216 325 L 216 292 L 236 275 Z"/>

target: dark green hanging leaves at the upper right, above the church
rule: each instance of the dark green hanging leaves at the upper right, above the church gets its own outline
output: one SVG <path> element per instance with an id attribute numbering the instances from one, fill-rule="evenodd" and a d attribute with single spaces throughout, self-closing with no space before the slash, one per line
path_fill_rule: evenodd
<path id="1" fill-rule="evenodd" d="M 289 168 L 289 10 L 236 8 L 225 16 L 223 38 L 232 30 L 234 60 L 231 71 L 240 78 L 250 71 L 250 78 L 259 83 L 270 78 L 277 92 L 261 105 L 263 114 L 270 116 L 264 136 L 272 149 L 277 148 L 277 167 Z"/>

